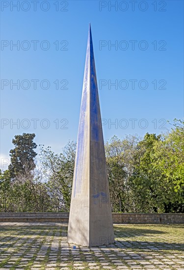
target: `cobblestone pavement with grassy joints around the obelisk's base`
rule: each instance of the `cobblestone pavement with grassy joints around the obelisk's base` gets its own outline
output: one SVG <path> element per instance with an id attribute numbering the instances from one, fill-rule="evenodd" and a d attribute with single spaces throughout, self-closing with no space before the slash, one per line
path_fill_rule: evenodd
<path id="1" fill-rule="evenodd" d="M 182 270 L 182 225 L 114 225 L 115 243 L 67 243 L 67 224 L 0 223 L 0 270 Z"/>

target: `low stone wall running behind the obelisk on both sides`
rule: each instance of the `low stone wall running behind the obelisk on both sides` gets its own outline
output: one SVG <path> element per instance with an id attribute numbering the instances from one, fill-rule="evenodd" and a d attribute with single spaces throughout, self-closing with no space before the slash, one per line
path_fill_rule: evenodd
<path id="1" fill-rule="evenodd" d="M 183 224 L 184 214 L 112 213 L 113 223 Z M 0 222 L 68 222 L 69 213 L 0 213 Z"/>

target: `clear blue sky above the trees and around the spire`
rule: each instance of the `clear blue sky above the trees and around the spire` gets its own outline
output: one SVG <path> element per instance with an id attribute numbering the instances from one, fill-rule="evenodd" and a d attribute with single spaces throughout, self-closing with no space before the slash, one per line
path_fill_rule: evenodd
<path id="1" fill-rule="evenodd" d="M 77 140 L 89 22 L 105 140 L 183 118 L 184 1 L 1 0 L 1 158 Z"/>

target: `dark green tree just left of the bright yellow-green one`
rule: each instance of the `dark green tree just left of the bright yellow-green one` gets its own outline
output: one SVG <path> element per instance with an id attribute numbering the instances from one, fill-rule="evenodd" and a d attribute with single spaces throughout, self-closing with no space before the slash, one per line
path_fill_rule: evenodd
<path id="1" fill-rule="evenodd" d="M 147 133 L 137 144 L 132 157 L 134 168 L 130 183 L 134 212 L 158 212 L 160 207 L 160 192 L 163 190 L 160 190 L 159 170 L 154 167 L 154 146 L 160 140 L 161 135 Z"/>

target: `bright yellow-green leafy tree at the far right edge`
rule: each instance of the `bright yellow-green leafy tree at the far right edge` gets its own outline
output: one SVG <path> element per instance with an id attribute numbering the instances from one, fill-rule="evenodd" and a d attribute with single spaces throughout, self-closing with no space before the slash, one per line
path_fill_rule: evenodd
<path id="1" fill-rule="evenodd" d="M 162 212 L 184 213 L 184 121 L 155 144 L 154 169 L 159 171 Z"/>

